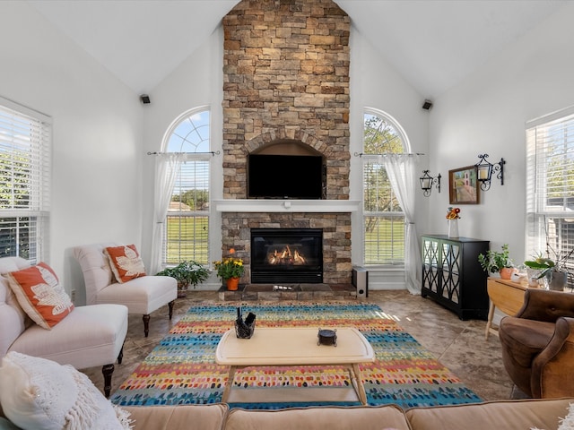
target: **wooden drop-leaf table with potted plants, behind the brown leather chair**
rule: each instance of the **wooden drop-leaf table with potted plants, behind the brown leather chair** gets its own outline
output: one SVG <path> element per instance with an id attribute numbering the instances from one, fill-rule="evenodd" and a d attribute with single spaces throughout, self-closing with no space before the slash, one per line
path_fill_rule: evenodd
<path id="1" fill-rule="evenodd" d="M 524 293 L 529 287 L 526 280 L 522 282 L 513 282 L 511 280 L 502 280 L 500 278 L 489 278 L 486 281 L 486 288 L 488 289 L 488 297 L 491 303 L 488 311 L 488 319 L 486 322 L 486 331 L 484 332 L 484 339 L 488 340 L 489 333 L 498 336 L 499 331 L 492 328 L 492 317 L 494 316 L 494 309 L 498 308 L 504 314 L 515 315 L 524 305 Z"/>

